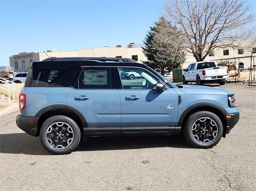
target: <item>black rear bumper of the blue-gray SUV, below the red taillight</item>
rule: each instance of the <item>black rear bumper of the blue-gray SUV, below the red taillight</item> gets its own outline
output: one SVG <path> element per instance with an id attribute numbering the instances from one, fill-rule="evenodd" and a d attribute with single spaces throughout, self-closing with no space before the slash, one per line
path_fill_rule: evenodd
<path id="1" fill-rule="evenodd" d="M 18 128 L 23 130 L 24 132 L 32 135 L 37 136 L 37 122 L 39 117 L 29 117 L 29 116 L 16 116 L 16 125 Z M 34 123 L 29 123 L 29 121 L 34 120 Z"/>

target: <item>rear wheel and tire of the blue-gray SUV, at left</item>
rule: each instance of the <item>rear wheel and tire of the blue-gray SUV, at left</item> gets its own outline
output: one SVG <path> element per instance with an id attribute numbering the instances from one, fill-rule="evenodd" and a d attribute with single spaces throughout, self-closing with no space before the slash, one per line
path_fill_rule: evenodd
<path id="1" fill-rule="evenodd" d="M 62 125 L 62 127 L 60 128 L 60 126 L 56 125 L 56 123 L 58 123 L 58 125 Z M 61 123 L 63 123 L 64 126 Z M 56 127 L 58 128 L 58 131 L 56 131 L 57 128 L 54 129 L 54 125 L 56 125 Z M 52 126 L 52 129 L 53 129 L 51 131 L 52 133 L 47 134 L 47 130 L 50 128 L 50 126 Z M 63 132 L 61 132 L 62 130 L 63 130 Z M 65 132 L 66 132 L 66 134 L 64 135 L 63 133 L 65 133 Z M 49 134 L 51 134 L 51 135 L 56 134 L 56 135 L 50 137 Z M 62 134 L 62 137 L 58 136 L 60 134 Z M 40 136 L 40 141 L 41 141 L 42 146 L 44 146 L 44 148 L 48 152 L 50 152 L 52 154 L 62 155 L 62 154 L 71 153 L 78 146 L 78 144 L 80 142 L 80 138 L 81 138 L 81 133 L 80 133 L 80 129 L 79 129 L 78 125 L 76 124 L 76 122 L 74 122 L 74 120 L 72 120 L 71 118 L 69 118 L 67 116 L 56 115 L 56 116 L 52 116 L 52 117 L 48 118 L 42 124 L 39 136 Z M 48 136 L 48 139 L 46 139 L 46 136 Z M 73 140 L 72 140 L 72 138 L 73 138 Z M 54 140 L 54 141 L 57 140 L 57 142 L 58 142 L 57 146 L 55 146 L 54 144 L 52 144 L 52 146 L 50 145 L 52 142 L 54 142 L 52 140 Z M 67 142 L 65 140 L 67 140 Z M 59 144 L 60 142 L 61 142 L 61 144 Z M 70 144 L 68 142 L 70 142 Z M 64 143 L 65 143 L 65 145 L 63 145 Z M 56 148 L 54 148 L 54 146 Z M 58 149 L 58 147 L 64 147 L 64 148 Z"/>

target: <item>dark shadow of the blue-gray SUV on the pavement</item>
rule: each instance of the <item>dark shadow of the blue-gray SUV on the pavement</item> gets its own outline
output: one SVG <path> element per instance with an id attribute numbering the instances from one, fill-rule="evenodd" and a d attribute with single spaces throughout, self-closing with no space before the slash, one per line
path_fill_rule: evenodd
<path id="1" fill-rule="evenodd" d="M 15 140 L 15 143 L 10 143 Z M 119 136 L 81 139 L 74 151 L 126 150 L 141 148 L 192 148 L 182 134 L 174 136 Z M 26 133 L 0 134 L 0 153 L 51 155 L 40 143 L 39 137 Z"/>

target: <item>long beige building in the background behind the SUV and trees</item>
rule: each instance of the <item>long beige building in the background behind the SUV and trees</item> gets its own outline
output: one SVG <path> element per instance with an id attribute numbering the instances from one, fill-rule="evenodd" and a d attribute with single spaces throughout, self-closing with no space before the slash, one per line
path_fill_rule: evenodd
<path id="1" fill-rule="evenodd" d="M 146 61 L 147 58 L 142 52 L 142 44 L 130 43 L 127 47 L 116 45 L 116 47 L 95 47 L 92 49 L 78 49 L 76 51 L 57 51 L 56 49 L 46 51 L 49 57 L 122 57 L 131 58 L 138 62 Z M 256 48 L 254 48 L 256 51 Z M 250 67 L 250 58 L 246 57 L 252 54 L 252 49 L 214 49 L 214 51 L 208 55 L 205 61 L 216 60 L 216 59 L 228 59 L 236 57 L 236 67 L 248 68 Z M 10 66 L 14 67 L 14 71 L 28 71 L 28 68 L 33 61 L 42 61 L 48 58 L 44 52 L 30 52 L 30 53 L 19 53 L 18 55 L 12 55 L 10 57 Z M 256 53 L 254 53 L 256 55 Z M 234 59 L 230 60 L 234 61 Z M 190 63 L 196 62 L 196 59 L 190 53 L 186 55 L 186 61 L 182 68 L 187 68 Z M 252 61 L 252 65 L 256 65 L 256 60 Z"/>

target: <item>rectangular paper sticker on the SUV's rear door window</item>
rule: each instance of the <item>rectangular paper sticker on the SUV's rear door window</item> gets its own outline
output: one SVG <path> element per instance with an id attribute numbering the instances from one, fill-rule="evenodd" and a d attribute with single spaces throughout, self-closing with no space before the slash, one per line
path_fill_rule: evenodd
<path id="1" fill-rule="evenodd" d="M 108 85 L 107 71 L 84 71 L 84 85 Z"/>

